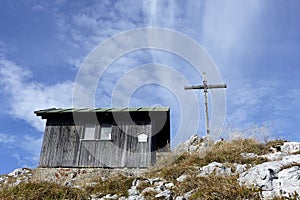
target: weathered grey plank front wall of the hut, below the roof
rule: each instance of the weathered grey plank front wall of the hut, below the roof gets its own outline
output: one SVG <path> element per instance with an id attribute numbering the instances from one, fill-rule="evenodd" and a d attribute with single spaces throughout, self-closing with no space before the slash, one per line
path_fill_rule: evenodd
<path id="1" fill-rule="evenodd" d="M 112 140 L 82 140 L 84 125 L 59 123 L 46 126 L 40 156 L 41 167 L 148 167 L 155 162 L 151 152 L 151 125 L 112 126 Z M 148 135 L 138 142 L 138 135 Z"/>

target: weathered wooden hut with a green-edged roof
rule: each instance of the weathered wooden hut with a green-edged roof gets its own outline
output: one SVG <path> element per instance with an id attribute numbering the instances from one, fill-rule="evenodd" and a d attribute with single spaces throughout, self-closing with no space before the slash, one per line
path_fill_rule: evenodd
<path id="1" fill-rule="evenodd" d="M 57 109 L 47 119 L 40 167 L 143 168 L 169 151 L 169 108 Z"/>

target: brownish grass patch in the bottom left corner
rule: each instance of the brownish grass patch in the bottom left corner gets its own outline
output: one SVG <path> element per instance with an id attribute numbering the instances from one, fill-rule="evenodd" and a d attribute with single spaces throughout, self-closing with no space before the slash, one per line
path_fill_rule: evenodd
<path id="1" fill-rule="evenodd" d="M 52 200 L 52 199 L 88 199 L 87 193 L 49 182 L 20 183 L 0 190 L 0 199 L 5 200 Z"/>

